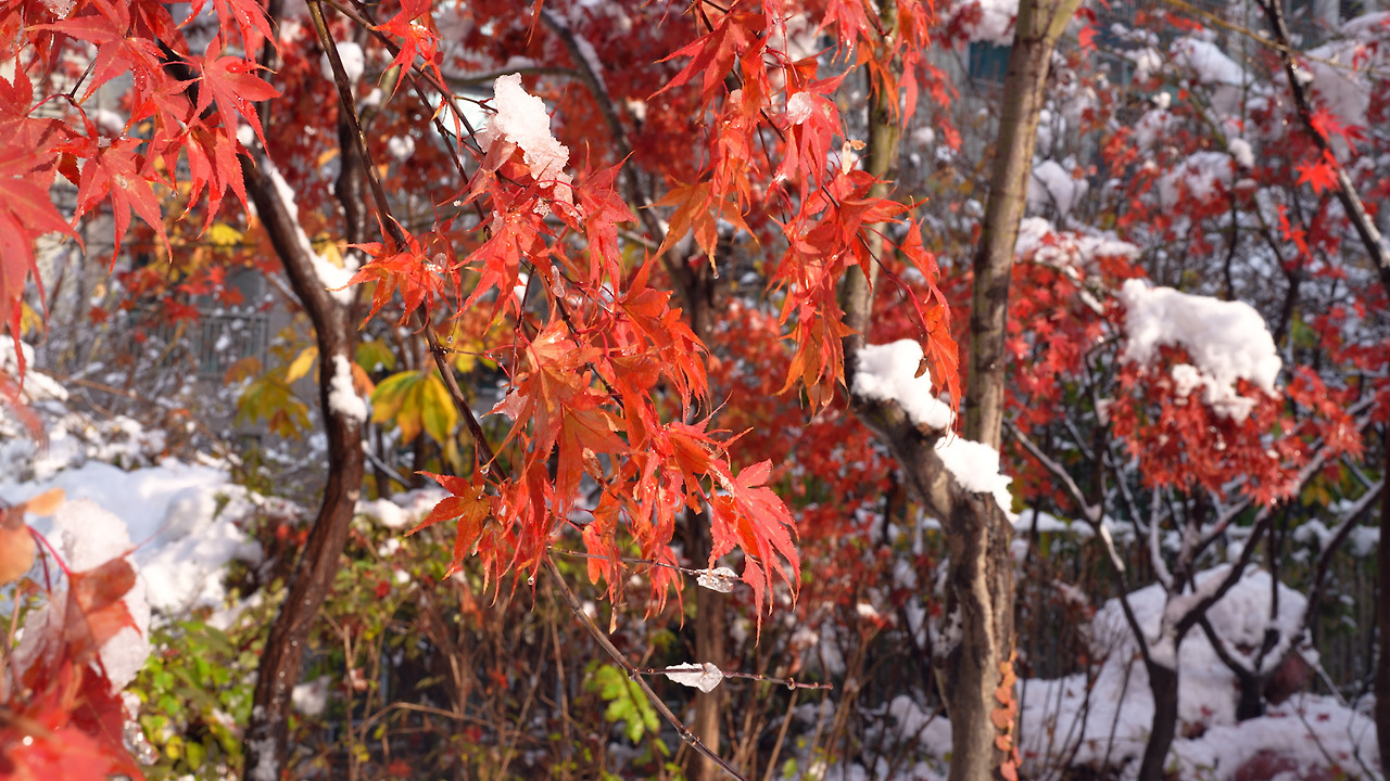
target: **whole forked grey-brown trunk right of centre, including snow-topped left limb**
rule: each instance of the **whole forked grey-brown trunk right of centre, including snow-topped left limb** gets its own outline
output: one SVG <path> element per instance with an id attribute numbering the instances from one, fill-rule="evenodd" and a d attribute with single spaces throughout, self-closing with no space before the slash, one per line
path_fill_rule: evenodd
<path id="1" fill-rule="evenodd" d="M 970 374 L 965 400 L 965 436 L 994 447 L 999 446 L 1004 422 L 1009 278 L 1033 172 L 1038 114 L 1052 49 L 1079 4 L 1080 0 L 1020 3 L 1009 57 L 998 156 L 974 258 Z M 892 17 L 891 3 L 881 4 L 881 10 L 884 18 Z M 880 101 L 870 108 L 869 120 L 866 170 L 881 178 L 891 167 L 897 136 L 881 132 L 890 122 Z M 872 245 L 872 249 L 877 257 L 881 245 Z M 845 338 L 845 377 L 853 388 L 856 353 L 865 345 L 872 321 L 872 281 L 852 268 L 841 289 L 841 302 L 845 322 L 855 329 Z M 937 436 L 919 431 L 901 407 L 858 397 L 852 404 L 856 416 L 878 434 L 902 464 L 903 477 L 917 499 L 945 520 L 949 549 L 947 616 L 959 620 L 959 642 L 945 648 L 942 657 L 935 660 L 951 718 L 949 778 L 1004 778 L 1004 767 L 1016 762 L 1012 750 L 1017 713 L 1012 689 L 1013 561 L 1009 557 L 1013 529 L 992 496 L 967 493 L 949 478 L 934 449 Z M 1004 728 L 995 727 L 997 716 Z M 1016 764 L 1008 767 L 1008 771 L 1016 770 Z"/>

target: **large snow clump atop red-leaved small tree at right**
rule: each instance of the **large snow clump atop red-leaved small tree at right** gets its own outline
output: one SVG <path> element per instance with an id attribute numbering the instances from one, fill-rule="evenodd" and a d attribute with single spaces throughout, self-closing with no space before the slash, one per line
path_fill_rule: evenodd
<path id="1" fill-rule="evenodd" d="M 1191 356 L 1195 365 L 1172 370 L 1180 396 L 1201 389 L 1218 414 L 1241 422 L 1255 400 L 1236 392 L 1238 379 L 1275 393 L 1283 361 L 1265 320 L 1250 304 L 1148 288 L 1140 279 L 1125 282 L 1119 299 L 1126 309 L 1125 360 L 1151 364 L 1159 347 L 1183 347 Z"/>

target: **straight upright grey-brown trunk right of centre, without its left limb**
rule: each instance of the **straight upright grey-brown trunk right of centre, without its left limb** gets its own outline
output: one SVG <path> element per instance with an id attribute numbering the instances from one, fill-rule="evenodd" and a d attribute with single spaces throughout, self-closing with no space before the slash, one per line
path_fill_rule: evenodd
<path id="1" fill-rule="evenodd" d="M 1009 53 L 990 197 L 974 254 L 970 300 L 970 368 L 965 438 L 998 449 L 1004 427 L 1009 281 L 1019 221 L 1033 175 L 1033 149 L 1056 39 L 1079 0 L 1024 0 Z M 960 621 L 960 642 L 940 660 L 938 682 L 951 718 L 951 781 L 1002 777 L 1016 763 L 1012 687 L 1012 525 L 990 496 L 956 502 L 945 518 L 951 554 L 947 616 Z M 995 712 L 999 718 L 995 718 Z M 997 724 L 1005 724 L 999 728 Z M 1002 739 L 1001 739 L 1002 738 Z M 1017 766 L 1011 770 L 1016 773 Z"/>

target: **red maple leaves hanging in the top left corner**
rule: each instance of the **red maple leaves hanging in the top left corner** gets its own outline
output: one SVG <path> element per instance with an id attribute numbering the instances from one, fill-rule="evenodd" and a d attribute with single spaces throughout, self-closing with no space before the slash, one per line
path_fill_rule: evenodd
<path id="1" fill-rule="evenodd" d="M 192 15 L 202 6 L 196 3 Z M 254 51 L 268 39 L 270 25 L 257 3 L 217 0 L 215 13 L 218 32 L 195 53 L 185 25 L 153 0 L 25 0 L 0 10 L 0 49 L 15 57 L 13 75 L 0 78 L 0 193 L 6 196 L 0 313 L 17 352 L 24 286 L 31 275 L 39 282 L 35 239 L 49 232 L 76 238 L 49 197 L 60 176 L 76 188 L 74 221 L 110 206 L 113 263 L 132 213 L 168 247 L 156 189 L 179 183 L 181 163 L 186 164 L 182 183 L 189 202 L 206 199 L 207 222 L 228 189 L 246 203 L 238 126 L 245 122 L 264 142 L 254 103 L 279 90 L 260 78 L 252 60 L 228 49 Z M 88 44 L 96 56 L 83 68 L 71 51 Z M 129 76 L 132 85 L 121 128 L 88 103 L 118 76 Z"/>

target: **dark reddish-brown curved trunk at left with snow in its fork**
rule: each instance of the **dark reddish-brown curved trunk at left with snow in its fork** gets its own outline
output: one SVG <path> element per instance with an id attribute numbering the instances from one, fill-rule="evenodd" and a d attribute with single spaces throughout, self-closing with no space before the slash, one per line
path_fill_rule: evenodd
<path id="1" fill-rule="evenodd" d="M 343 163 L 336 192 L 346 218 L 345 238 L 349 243 L 360 243 L 367 227 L 363 163 L 356 143 L 348 135 L 352 132 L 350 126 L 345 125 L 346 120 L 341 115 L 339 138 L 345 143 L 341 145 Z M 259 161 L 260 165 L 267 165 L 264 156 Z M 310 250 L 300 242 L 302 228 L 286 210 L 265 171 L 243 158 L 242 172 L 246 192 L 285 265 L 291 286 L 314 325 L 320 357 L 318 407 L 328 434 L 328 481 L 324 485 L 322 504 L 291 575 L 285 603 L 265 638 L 252 718 L 246 725 L 243 777 L 247 781 L 275 781 L 281 777 L 289 750 L 291 695 L 299 681 L 309 631 L 332 589 L 353 511 L 361 496 L 366 420 L 334 409 L 328 402 L 336 361 L 352 361 L 356 350 L 357 315 L 353 306 L 335 299 L 324 288 L 314 261 L 307 254 Z"/>

